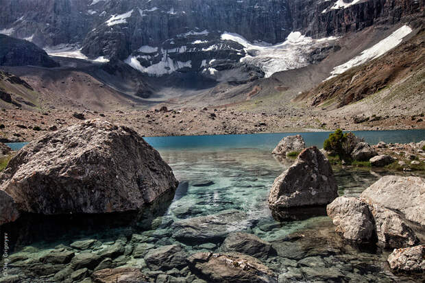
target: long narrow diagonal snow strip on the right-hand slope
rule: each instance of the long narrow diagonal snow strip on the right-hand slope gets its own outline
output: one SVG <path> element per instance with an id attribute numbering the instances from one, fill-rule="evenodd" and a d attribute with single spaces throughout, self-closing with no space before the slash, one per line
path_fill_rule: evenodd
<path id="1" fill-rule="evenodd" d="M 364 50 L 361 53 L 361 55 L 352 58 L 352 60 L 345 62 L 342 65 L 336 66 L 334 68 L 334 71 L 330 73 L 331 76 L 328 77 L 327 79 L 336 77 L 337 75 L 344 73 L 345 71 L 347 71 L 348 69 L 354 66 L 359 66 L 367 61 L 374 60 L 378 58 L 379 56 L 382 56 L 387 51 L 399 45 L 400 42 L 402 42 L 403 38 L 407 36 L 408 34 L 410 34 L 411 32 L 412 32 L 412 29 L 407 25 L 400 27 L 400 29 L 397 29 L 396 32 L 393 32 L 387 38 L 384 38 L 383 40 L 376 43 L 376 45 L 370 47 L 369 49 Z"/>

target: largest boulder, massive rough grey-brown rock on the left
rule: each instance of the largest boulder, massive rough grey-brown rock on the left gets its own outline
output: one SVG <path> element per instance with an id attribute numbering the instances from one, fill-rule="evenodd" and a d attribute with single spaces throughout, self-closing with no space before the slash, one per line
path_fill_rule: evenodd
<path id="1" fill-rule="evenodd" d="M 178 182 L 134 130 L 90 120 L 23 147 L 0 184 L 20 210 L 68 214 L 138 210 Z"/>

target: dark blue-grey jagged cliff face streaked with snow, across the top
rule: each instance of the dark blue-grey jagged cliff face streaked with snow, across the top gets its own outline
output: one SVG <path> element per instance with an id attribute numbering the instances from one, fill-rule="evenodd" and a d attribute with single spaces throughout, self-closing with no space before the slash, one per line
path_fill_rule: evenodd
<path id="1" fill-rule="evenodd" d="M 423 7 L 424 0 L 0 0 L 0 33 L 118 58 L 150 75 L 196 71 L 239 81 L 337 48 L 313 38 L 409 21 Z"/>

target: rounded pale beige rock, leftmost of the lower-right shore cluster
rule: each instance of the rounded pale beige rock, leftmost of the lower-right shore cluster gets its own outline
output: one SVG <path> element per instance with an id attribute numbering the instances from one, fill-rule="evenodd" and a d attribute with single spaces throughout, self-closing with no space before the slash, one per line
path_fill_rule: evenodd
<path id="1" fill-rule="evenodd" d="M 338 197 L 326 211 L 337 226 L 336 232 L 344 238 L 358 243 L 374 239 L 374 217 L 365 202 L 356 197 Z"/>

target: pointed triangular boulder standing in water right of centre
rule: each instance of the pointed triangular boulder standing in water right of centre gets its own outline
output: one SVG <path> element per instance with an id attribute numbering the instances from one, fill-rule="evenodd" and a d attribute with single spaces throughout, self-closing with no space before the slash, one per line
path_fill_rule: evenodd
<path id="1" fill-rule="evenodd" d="M 338 186 L 328 159 L 317 147 L 309 147 L 274 180 L 269 206 L 271 210 L 324 206 L 336 197 Z"/>

